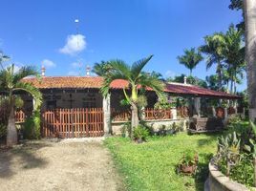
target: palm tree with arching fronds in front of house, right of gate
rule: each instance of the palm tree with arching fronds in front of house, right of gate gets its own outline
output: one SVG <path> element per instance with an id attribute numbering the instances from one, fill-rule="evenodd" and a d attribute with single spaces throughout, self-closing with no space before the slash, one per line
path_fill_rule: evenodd
<path id="1" fill-rule="evenodd" d="M 111 60 L 108 62 L 111 70 L 109 73 L 103 75 L 104 83 L 101 87 L 101 93 L 103 96 L 107 96 L 110 90 L 110 84 L 116 79 L 124 79 L 128 82 L 128 86 L 123 88 L 123 94 L 132 110 L 131 121 L 131 138 L 133 138 L 133 130 L 139 125 L 139 88 L 151 88 L 159 97 L 164 96 L 164 84 L 155 76 L 155 74 L 146 74 L 142 72 L 142 69 L 152 58 L 149 57 L 140 59 L 139 61 L 129 66 L 122 60 Z M 128 96 L 128 93 L 131 95 Z"/>

